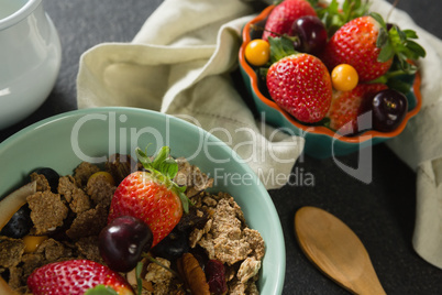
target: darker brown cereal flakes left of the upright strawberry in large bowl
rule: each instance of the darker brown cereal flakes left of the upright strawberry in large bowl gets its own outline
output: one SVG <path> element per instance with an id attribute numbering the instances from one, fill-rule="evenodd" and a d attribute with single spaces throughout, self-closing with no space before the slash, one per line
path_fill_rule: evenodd
<path id="1" fill-rule="evenodd" d="M 27 292 L 27 276 L 45 264 L 73 259 L 102 263 L 98 233 L 107 225 L 115 187 L 103 177 L 93 177 L 98 171 L 100 168 L 96 165 L 81 163 L 73 176 L 59 178 L 56 193 L 51 190 L 45 176 L 31 174 L 37 190 L 27 197 L 33 222 L 30 237 L 33 238 L 0 236 L 0 275 L 18 293 Z M 29 250 L 35 243 L 32 241 L 34 238 L 41 243 L 36 249 Z"/>

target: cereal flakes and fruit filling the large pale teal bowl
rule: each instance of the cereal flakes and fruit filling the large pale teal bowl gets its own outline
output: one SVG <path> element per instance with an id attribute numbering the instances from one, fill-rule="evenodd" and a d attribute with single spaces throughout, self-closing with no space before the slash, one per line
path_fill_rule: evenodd
<path id="1" fill-rule="evenodd" d="M 7 197 L 25 199 L 0 225 L 0 274 L 10 287 L 256 294 L 264 240 L 234 198 L 208 193 L 213 179 L 167 146 L 155 159 L 136 154 L 137 163 L 122 154 L 103 166 L 82 162 L 66 176 L 38 168 L 24 186 L 32 190 Z"/>

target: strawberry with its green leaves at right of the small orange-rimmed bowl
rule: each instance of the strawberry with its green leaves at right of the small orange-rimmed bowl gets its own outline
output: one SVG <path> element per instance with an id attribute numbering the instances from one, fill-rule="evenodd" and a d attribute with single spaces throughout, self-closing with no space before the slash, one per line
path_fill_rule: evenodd
<path id="1" fill-rule="evenodd" d="M 412 39 L 413 31 L 401 31 L 389 25 L 378 13 L 356 18 L 342 25 L 330 39 L 321 59 L 329 70 L 340 64 L 352 65 L 360 81 L 371 81 L 384 76 L 394 58 L 400 65 L 400 73 L 412 74 L 416 67 L 408 59 L 424 57 L 424 50 Z"/>

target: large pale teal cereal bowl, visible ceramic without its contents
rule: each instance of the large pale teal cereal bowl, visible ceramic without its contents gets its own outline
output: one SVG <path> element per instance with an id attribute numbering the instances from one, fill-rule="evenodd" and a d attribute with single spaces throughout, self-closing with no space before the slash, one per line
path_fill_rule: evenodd
<path id="1" fill-rule="evenodd" d="M 37 167 L 71 174 L 81 161 L 100 163 L 115 152 L 134 155 L 136 146 L 147 144 L 152 153 L 170 146 L 174 156 L 185 156 L 214 178 L 214 192 L 234 197 L 248 226 L 261 232 L 266 244 L 259 292 L 281 294 L 285 242 L 267 190 L 226 144 L 175 117 L 135 108 L 95 108 L 62 113 L 27 127 L 0 144 L 0 196 L 23 185 L 29 173 Z"/>

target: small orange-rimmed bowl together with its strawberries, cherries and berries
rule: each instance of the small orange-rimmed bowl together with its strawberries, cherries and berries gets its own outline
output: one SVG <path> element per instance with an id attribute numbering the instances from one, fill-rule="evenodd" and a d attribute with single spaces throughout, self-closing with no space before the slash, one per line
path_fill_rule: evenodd
<path id="1" fill-rule="evenodd" d="M 285 0 L 245 24 L 240 68 L 257 111 L 330 157 L 398 135 L 421 107 L 411 30 L 369 3 Z"/>

